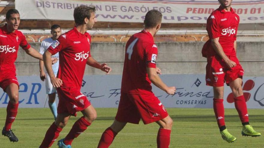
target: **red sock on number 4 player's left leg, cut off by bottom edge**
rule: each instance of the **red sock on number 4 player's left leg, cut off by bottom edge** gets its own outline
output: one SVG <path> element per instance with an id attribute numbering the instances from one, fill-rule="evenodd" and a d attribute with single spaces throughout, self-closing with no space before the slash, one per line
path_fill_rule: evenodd
<path id="1" fill-rule="evenodd" d="M 101 136 L 97 148 L 108 148 L 110 144 L 112 144 L 113 140 L 115 139 L 117 133 L 113 131 L 110 127 L 108 127 Z"/>

